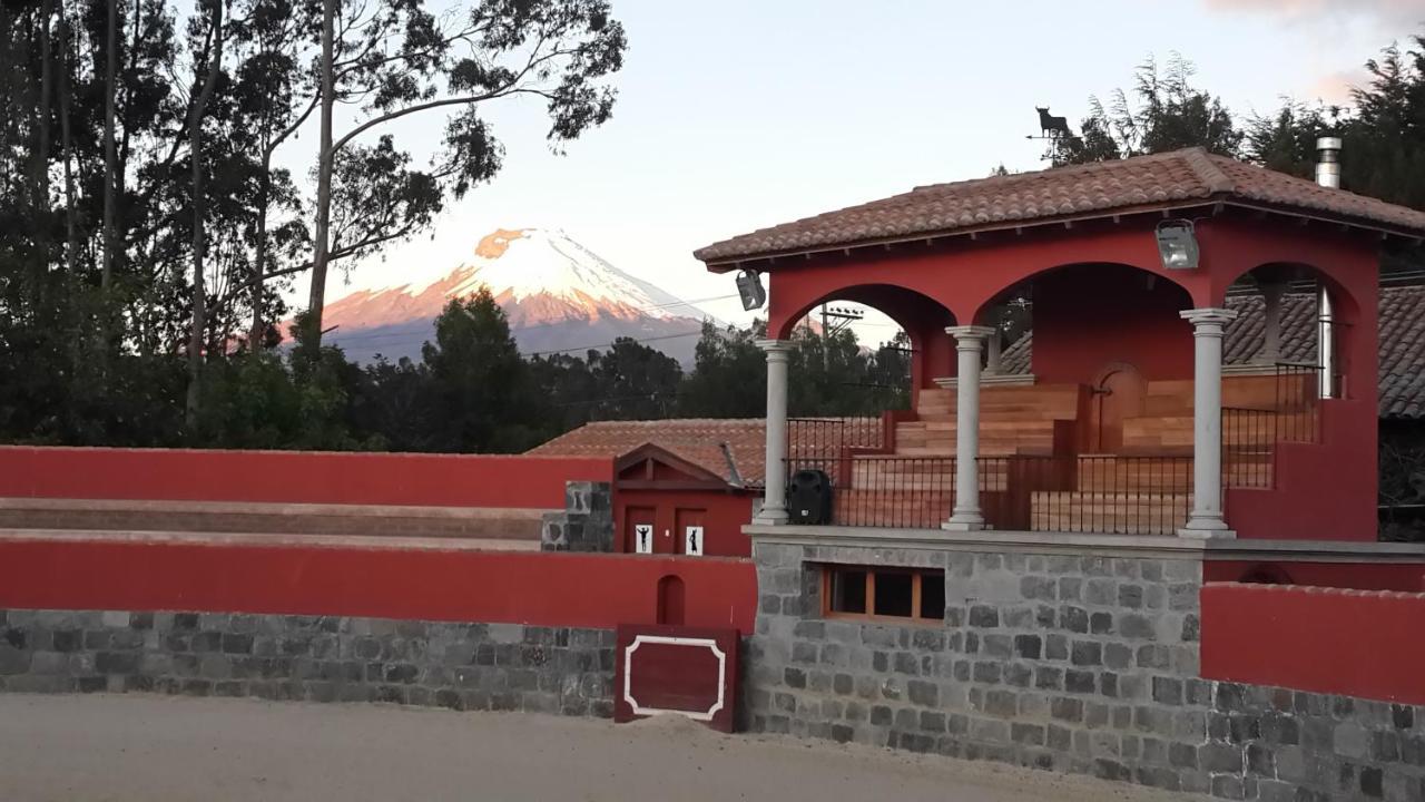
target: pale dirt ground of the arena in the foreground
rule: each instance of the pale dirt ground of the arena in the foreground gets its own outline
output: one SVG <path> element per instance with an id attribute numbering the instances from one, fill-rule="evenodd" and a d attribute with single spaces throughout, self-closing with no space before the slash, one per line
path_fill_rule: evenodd
<path id="1" fill-rule="evenodd" d="M 1184 796 L 684 719 L 0 695 L 0 799 L 1103 802 Z"/>

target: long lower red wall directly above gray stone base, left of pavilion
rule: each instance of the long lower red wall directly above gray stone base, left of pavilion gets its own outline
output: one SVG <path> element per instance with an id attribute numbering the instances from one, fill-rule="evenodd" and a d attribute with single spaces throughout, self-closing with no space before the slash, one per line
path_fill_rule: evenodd
<path id="1" fill-rule="evenodd" d="M 539 626 L 656 624 L 658 579 L 690 626 L 751 632 L 747 559 L 144 542 L 0 541 L 0 608 L 358 615 Z"/>

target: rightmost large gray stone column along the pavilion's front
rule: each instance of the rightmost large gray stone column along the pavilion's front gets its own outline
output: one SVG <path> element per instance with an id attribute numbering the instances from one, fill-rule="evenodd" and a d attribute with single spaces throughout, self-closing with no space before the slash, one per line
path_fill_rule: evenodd
<path id="1" fill-rule="evenodd" d="M 1223 327 L 1231 310 L 1178 313 L 1193 324 L 1193 512 L 1184 538 L 1234 538 L 1223 519 Z"/>

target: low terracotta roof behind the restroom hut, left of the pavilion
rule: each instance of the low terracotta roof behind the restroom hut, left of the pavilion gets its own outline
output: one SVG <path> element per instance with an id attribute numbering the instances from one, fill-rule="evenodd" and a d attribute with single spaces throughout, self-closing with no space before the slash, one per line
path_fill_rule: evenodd
<path id="1" fill-rule="evenodd" d="M 727 464 L 727 444 L 737 477 Z M 677 418 L 665 421 L 594 421 L 539 445 L 542 457 L 621 457 L 651 444 L 727 481 L 761 485 L 767 477 L 767 422 L 762 418 Z"/>

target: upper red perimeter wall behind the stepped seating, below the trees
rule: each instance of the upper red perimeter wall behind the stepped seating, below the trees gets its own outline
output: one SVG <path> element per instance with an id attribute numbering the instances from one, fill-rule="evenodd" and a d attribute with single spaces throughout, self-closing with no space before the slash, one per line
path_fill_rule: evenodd
<path id="1" fill-rule="evenodd" d="M 0 447 L 0 497 L 563 509 L 613 461 L 486 454 Z"/>

